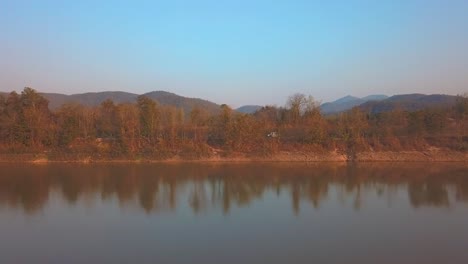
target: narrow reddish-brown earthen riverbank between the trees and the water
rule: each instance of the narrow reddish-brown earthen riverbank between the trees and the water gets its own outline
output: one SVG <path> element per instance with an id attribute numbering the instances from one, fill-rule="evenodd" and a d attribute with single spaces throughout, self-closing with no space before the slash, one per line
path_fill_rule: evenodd
<path id="1" fill-rule="evenodd" d="M 209 157 L 183 158 L 102 158 L 92 156 L 57 157 L 47 154 L 2 154 L 0 162 L 21 163 L 158 163 L 158 162 L 468 162 L 468 152 L 429 148 L 424 151 L 365 151 L 353 157 L 337 151 L 304 152 L 280 151 L 269 156 L 252 156 L 245 153 L 214 154 Z"/>

